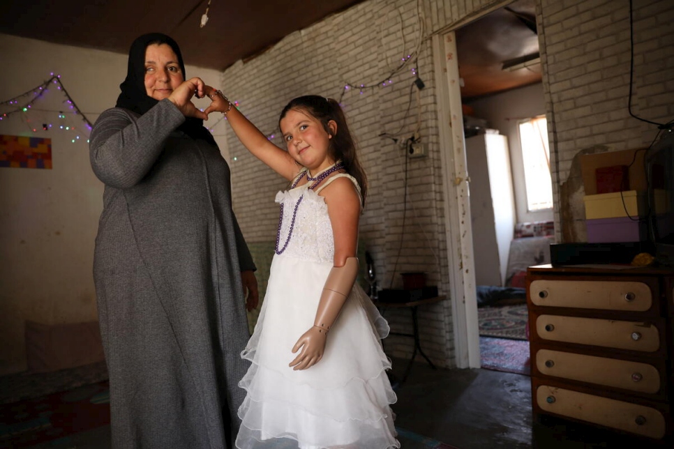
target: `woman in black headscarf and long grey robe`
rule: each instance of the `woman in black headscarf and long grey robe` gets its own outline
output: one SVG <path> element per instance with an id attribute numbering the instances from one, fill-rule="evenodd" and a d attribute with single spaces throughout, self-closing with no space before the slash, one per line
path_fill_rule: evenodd
<path id="1" fill-rule="evenodd" d="M 232 213 L 230 172 L 199 78 L 177 43 L 131 46 L 117 107 L 91 132 L 105 183 L 93 273 L 110 372 L 114 448 L 230 448 L 244 392 L 255 266 Z"/>

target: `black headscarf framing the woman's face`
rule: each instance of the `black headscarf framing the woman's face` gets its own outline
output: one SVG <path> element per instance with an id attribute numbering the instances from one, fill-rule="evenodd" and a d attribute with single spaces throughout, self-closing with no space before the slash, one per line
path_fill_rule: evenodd
<path id="1" fill-rule="evenodd" d="M 126 79 L 119 85 L 121 93 L 117 97 L 116 106 L 129 109 L 140 115 L 145 114 L 158 103 L 157 100 L 147 95 L 145 89 L 145 50 L 151 44 L 169 45 L 176 56 L 178 56 L 180 70 L 183 73 L 183 77 L 186 77 L 183 55 L 176 41 L 170 38 L 170 36 L 162 33 L 148 33 L 134 40 L 128 54 Z M 186 117 L 185 123 L 180 125 L 178 129 L 193 139 L 206 139 L 209 142 L 215 143 L 213 135 L 211 135 L 209 130 L 204 128 L 204 121 L 202 119 Z"/>

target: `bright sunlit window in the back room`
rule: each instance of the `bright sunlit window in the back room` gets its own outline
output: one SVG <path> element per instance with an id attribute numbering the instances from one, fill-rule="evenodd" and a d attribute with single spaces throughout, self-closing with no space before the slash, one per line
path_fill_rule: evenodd
<path id="1" fill-rule="evenodd" d="M 553 184 L 550 176 L 550 146 L 545 116 L 520 122 L 520 144 L 527 186 L 528 211 L 553 207 Z"/>

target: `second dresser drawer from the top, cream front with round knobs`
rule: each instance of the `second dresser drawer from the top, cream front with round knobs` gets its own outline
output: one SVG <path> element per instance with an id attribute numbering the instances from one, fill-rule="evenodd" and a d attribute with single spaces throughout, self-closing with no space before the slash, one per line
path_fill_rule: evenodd
<path id="1" fill-rule="evenodd" d="M 534 317 L 532 340 L 587 344 L 653 353 L 661 350 L 663 329 L 654 322 L 620 321 L 564 315 L 542 314 Z M 659 323 L 661 321 L 658 321 Z"/>

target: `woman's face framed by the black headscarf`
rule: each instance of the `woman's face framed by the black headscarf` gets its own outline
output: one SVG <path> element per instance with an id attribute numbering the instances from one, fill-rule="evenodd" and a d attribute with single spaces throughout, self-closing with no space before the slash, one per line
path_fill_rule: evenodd
<path id="1" fill-rule="evenodd" d="M 155 100 L 169 98 L 182 82 L 178 56 L 170 45 L 151 44 L 145 50 L 145 91 Z"/>

